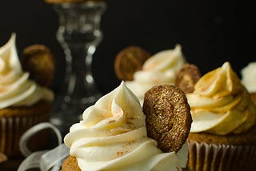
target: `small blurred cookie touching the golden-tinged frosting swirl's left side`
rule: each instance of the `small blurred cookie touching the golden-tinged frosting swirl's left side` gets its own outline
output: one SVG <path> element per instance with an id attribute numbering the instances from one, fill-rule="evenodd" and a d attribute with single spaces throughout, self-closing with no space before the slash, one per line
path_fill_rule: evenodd
<path id="1" fill-rule="evenodd" d="M 193 64 L 184 64 L 175 78 L 175 85 L 182 89 L 184 93 L 192 93 L 194 91 L 194 85 L 201 77 L 201 73 L 198 70 L 198 66 Z"/>

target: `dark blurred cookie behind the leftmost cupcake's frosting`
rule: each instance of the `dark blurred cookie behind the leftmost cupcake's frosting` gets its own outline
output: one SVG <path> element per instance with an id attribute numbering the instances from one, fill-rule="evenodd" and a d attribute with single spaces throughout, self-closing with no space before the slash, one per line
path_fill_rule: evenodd
<path id="1" fill-rule="evenodd" d="M 39 85 L 49 86 L 54 78 L 55 62 L 50 49 L 43 45 L 27 46 L 21 55 L 23 70 Z"/>

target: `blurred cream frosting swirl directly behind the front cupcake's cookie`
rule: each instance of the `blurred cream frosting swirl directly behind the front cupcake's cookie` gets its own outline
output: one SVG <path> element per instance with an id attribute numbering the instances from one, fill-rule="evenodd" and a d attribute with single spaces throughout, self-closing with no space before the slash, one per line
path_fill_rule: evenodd
<path id="1" fill-rule="evenodd" d="M 134 73 L 134 80 L 126 82 L 141 104 L 146 91 L 154 85 L 174 85 L 176 73 L 186 63 L 181 49 L 177 45 L 174 50 L 163 50 L 154 54 L 143 64 L 142 70 Z"/>

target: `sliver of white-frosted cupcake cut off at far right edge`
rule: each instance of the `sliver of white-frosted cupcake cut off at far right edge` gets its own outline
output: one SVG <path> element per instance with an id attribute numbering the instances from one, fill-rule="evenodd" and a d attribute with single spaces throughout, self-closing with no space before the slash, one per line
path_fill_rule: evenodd
<path id="1" fill-rule="evenodd" d="M 246 86 L 256 105 L 256 62 L 250 62 L 241 70 L 242 84 Z"/>

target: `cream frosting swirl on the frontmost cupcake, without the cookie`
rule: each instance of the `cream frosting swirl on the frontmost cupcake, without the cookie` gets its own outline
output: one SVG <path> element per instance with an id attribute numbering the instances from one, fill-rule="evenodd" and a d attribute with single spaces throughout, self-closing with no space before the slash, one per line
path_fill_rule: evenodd
<path id="1" fill-rule="evenodd" d="M 124 82 L 87 108 L 64 138 L 82 170 L 182 170 L 187 146 L 162 153 L 147 137 L 145 115 Z"/>

